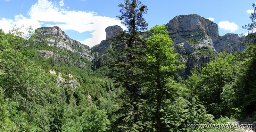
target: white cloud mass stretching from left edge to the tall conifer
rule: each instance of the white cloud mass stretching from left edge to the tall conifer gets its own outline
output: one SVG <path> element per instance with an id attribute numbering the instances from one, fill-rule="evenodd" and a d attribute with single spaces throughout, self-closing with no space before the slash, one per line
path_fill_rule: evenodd
<path id="1" fill-rule="evenodd" d="M 5 0 L 9 1 L 9 0 Z M 54 25 L 46 25 L 47 27 L 59 26 L 62 30 L 75 30 L 79 33 L 86 31 L 92 32 L 92 38 L 78 40 L 82 44 L 90 47 L 99 44 L 106 39 L 105 28 L 108 26 L 119 25 L 126 29 L 116 18 L 99 16 L 95 12 L 69 11 L 63 8 L 64 0 L 59 2 L 51 2 L 48 0 L 38 0 L 32 5 L 28 15 L 30 18 L 24 17 L 22 14 L 16 15 L 14 19 L 0 19 L 0 29 L 4 32 L 9 32 L 14 25 L 17 27 L 24 26 L 33 29 L 40 28 L 45 22 L 54 22 Z M 40 21 L 40 22 L 39 22 Z"/>

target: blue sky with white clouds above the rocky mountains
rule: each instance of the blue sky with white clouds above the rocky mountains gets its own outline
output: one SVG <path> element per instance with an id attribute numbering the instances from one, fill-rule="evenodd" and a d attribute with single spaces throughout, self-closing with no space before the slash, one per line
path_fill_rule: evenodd
<path id="1" fill-rule="evenodd" d="M 219 25 L 219 35 L 243 33 L 253 0 L 141 0 L 148 7 L 144 18 L 148 28 L 166 24 L 182 14 L 198 14 Z M 124 26 L 115 17 L 120 15 L 123 0 L 0 0 L 0 29 L 8 32 L 14 24 L 25 27 L 59 26 L 66 35 L 90 47 L 105 37 L 105 28 Z"/>

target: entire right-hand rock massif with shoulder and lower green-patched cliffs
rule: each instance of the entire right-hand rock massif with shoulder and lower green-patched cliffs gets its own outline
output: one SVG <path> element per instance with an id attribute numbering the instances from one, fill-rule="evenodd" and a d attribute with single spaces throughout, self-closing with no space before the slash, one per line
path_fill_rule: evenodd
<path id="1" fill-rule="evenodd" d="M 180 59 L 187 68 L 185 73 L 180 72 L 182 76 L 190 75 L 193 67 L 209 62 L 217 52 L 242 52 L 246 48 L 239 44 L 242 39 L 237 34 L 219 36 L 216 23 L 196 14 L 176 16 L 166 26 L 176 52 L 184 54 Z"/>

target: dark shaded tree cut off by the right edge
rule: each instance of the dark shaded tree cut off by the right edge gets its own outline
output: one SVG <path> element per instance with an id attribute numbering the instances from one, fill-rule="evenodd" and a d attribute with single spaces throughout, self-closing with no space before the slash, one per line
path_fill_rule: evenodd
<path id="1" fill-rule="evenodd" d="M 243 28 L 249 30 L 248 36 L 244 37 L 245 45 L 248 45 L 247 49 L 244 51 L 245 60 L 244 60 L 244 75 L 242 75 L 240 81 L 243 86 L 244 95 L 240 95 L 245 102 L 241 102 L 242 107 L 246 110 L 245 112 L 256 113 L 256 4 L 253 3 L 252 7 L 254 12 L 251 13 L 250 19 L 252 23 L 248 23 Z M 240 85 L 241 85 L 240 84 Z M 238 87 L 239 88 L 239 87 Z M 256 117 L 256 114 L 254 115 Z"/>

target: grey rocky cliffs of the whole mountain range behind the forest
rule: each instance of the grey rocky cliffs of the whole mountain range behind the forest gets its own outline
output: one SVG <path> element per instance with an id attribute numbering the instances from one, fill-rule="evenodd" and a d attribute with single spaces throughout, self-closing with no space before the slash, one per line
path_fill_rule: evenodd
<path id="1" fill-rule="evenodd" d="M 202 67 L 207 62 L 217 57 L 217 53 L 225 51 L 228 53 L 242 52 L 246 48 L 240 45 L 242 38 L 238 34 L 226 34 L 219 36 L 218 25 L 209 19 L 196 14 L 179 15 L 170 20 L 166 26 L 170 38 L 172 38 L 181 63 L 186 64 L 185 71 L 179 71 L 179 75 L 186 77 L 191 74 L 194 67 Z M 94 47 L 89 47 L 80 42 L 70 39 L 59 27 L 39 28 L 36 32 L 41 36 L 36 42 L 47 42 L 49 46 L 76 52 L 93 62 L 93 67 L 99 68 L 107 65 L 113 53 L 105 53 L 111 49 L 112 38 L 117 36 L 123 29 L 120 26 L 110 26 L 105 29 L 106 40 Z M 146 34 L 143 38 L 150 37 Z M 52 51 L 38 50 L 43 57 L 54 56 Z M 58 60 L 58 59 L 57 59 Z"/>

